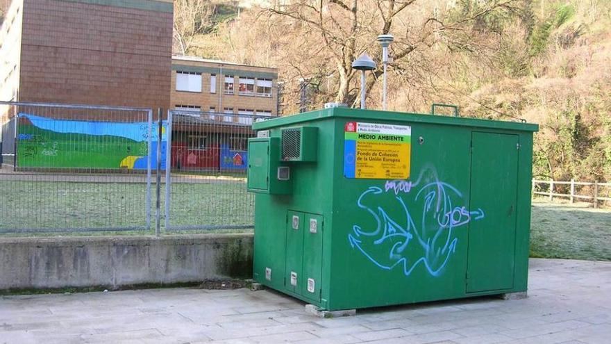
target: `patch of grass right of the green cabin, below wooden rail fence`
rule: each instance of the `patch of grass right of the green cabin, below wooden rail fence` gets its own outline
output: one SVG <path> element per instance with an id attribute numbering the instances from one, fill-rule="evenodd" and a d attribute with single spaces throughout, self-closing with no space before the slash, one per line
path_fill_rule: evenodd
<path id="1" fill-rule="evenodd" d="M 611 210 L 533 202 L 530 256 L 611 261 Z"/>

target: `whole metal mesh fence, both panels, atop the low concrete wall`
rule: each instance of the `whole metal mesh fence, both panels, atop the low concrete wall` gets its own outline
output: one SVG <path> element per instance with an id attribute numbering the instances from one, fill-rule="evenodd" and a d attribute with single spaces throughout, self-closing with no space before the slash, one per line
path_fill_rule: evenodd
<path id="1" fill-rule="evenodd" d="M 155 117 L 144 108 L 0 101 L 0 234 L 252 228 L 248 139 L 269 114 Z"/>

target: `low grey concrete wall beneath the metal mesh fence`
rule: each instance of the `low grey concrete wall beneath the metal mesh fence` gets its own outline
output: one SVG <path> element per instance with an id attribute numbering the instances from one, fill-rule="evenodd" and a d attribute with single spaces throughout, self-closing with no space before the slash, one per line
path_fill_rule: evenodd
<path id="1" fill-rule="evenodd" d="M 0 238 L 0 290 L 251 277 L 252 234 Z"/>

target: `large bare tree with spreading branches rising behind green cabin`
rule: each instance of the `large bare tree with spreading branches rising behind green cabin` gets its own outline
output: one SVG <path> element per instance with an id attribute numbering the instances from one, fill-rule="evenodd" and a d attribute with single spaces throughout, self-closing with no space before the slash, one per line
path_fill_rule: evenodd
<path id="1" fill-rule="evenodd" d="M 417 49 L 430 49 L 436 44 L 464 45 L 468 35 L 455 35 L 467 31 L 469 26 L 481 17 L 494 11 L 511 11 L 522 0 L 485 1 L 471 13 L 461 17 L 442 18 L 435 6 L 444 1 L 431 1 L 429 16 L 413 22 L 408 9 L 416 0 L 295 0 L 287 1 L 284 6 L 267 8 L 269 20 L 286 19 L 287 24 L 299 26 L 303 35 L 319 38 L 319 49 L 328 58 L 327 74 L 337 74 L 335 101 L 355 104 L 358 101 L 358 88 L 355 87 L 355 70 L 352 61 L 368 51 L 371 58 L 381 60 L 381 49 L 376 42 L 379 34 L 393 33 L 390 69 L 401 73 L 408 66 L 409 56 Z M 448 1 L 446 1 L 447 5 Z M 429 10 L 427 8 L 427 10 Z M 303 63 L 311 58 L 304 56 Z M 302 65 L 303 63 L 294 63 Z M 367 89 L 377 83 L 381 69 L 367 79 Z"/>

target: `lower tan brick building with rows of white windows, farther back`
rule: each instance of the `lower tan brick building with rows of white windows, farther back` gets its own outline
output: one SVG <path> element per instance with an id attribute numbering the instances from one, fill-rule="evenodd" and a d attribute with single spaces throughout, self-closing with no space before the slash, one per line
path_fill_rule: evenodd
<path id="1" fill-rule="evenodd" d="M 278 70 L 172 58 L 171 165 L 178 169 L 244 170 L 253 117 L 276 116 Z"/>

